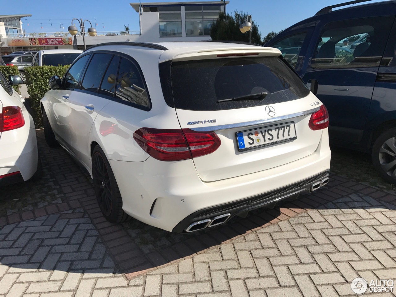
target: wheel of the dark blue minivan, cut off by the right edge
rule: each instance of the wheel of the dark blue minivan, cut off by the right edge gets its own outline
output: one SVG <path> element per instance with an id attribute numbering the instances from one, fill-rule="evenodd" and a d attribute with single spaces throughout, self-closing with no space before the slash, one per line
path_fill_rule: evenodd
<path id="1" fill-rule="evenodd" d="M 396 184 L 396 128 L 379 135 L 373 145 L 371 159 L 378 174 L 386 182 Z"/>

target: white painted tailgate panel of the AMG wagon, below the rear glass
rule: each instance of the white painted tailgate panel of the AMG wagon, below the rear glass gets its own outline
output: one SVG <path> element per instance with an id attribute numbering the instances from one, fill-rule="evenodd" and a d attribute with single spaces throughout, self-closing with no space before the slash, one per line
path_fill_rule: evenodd
<path id="1" fill-rule="evenodd" d="M 239 109 L 238 114 L 230 114 L 228 110 L 197 114 L 196 111 L 177 109 L 181 128 L 214 131 L 221 140 L 215 152 L 193 158 L 200 178 L 217 181 L 246 175 L 281 166 L 315 152 L 322 130 L 313 131 L 308 126 L 311 113 L 318 110 L 310 107 L 310 100 L 312 98 L 270 105 L 279 114 L 274 118 L 267 115 L 266 106 Z M 217 125 L 201 123 L 204 119 L 215 120 Z M 188 125 L 190 122 L 198 124 Z M 244 146 L 238 145 L 240 132 Z M 252 148 L 249 143 L 253 142 L 255 146 Z"/>

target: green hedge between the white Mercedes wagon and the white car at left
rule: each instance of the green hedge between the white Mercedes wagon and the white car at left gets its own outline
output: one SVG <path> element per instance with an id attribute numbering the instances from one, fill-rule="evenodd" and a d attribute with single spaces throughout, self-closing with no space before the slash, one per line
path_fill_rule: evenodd
<path id="1" fill-rule="evenodd" d="M 69 65 L 65 66 L 32 66 L 25 68 L 27 92 L 29 103 L 32 108 L 32 117 L 36 128 L 42 128 L 42 115 L 40 111 L 40 100 L 49 91 L 48 81 L 51 76 L 62 77 Z"/>

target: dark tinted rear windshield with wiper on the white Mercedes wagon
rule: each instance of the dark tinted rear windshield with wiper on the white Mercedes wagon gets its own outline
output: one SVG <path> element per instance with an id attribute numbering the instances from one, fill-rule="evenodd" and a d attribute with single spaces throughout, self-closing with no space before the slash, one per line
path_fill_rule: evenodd
<path id="1" fill-rule="evenodd" d="M 169 86 L 163 80 L 164 96 L 168 105 L 178 109 L 237 109 L 291 101 L 309 94 L 303 81 L 278 57 L 173 62 L 170 72 L 171 91 L 166 90 Z M 217 102 L 260 92 L 267 92 L 267 97 Z M 173 104 L 169 104 L 171 94 Z"/>

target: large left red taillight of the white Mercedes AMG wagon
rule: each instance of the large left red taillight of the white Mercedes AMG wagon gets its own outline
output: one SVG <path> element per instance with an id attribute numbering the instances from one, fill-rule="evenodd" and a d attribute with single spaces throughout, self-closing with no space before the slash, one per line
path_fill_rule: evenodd
<path id="1" fill-rule="evenodd" d="M 147 154 L 162 161 L 177 161 L 203 156 L 217 150 L 221 141 L 215 132 L 191 129 L 141 128 L 133 139 Z"/>

